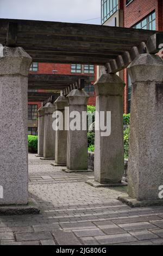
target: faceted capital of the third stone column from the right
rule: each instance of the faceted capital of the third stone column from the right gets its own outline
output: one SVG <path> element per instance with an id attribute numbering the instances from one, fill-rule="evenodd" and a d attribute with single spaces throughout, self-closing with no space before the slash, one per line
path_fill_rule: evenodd
<path id="1" fill-rule="evenodd" d="M 67 95 L 69 105 L 87 105 L 89 95 L 84 90 L 74 89 Z"/>

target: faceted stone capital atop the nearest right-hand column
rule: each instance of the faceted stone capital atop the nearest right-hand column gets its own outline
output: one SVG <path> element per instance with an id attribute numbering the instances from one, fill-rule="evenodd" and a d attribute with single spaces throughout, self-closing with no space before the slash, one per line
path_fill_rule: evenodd
<path id="1" fill-rule="evenodd" d="M 131 83 L 163 80 L 163 60 L 155 54 L 140 54 L 128 66 Z M 162 74 L 162 75 L 161 75 Z"/>

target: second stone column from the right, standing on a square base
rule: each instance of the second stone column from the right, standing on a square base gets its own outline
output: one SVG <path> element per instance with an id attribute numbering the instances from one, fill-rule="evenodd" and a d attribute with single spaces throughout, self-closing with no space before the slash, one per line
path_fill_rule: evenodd
<path id="1" fill-rule="evenodd" d="M 95 83 L 96 111 L 103 111 L 105 118 L 111 111 L 110 136 L 101 136 L 100 128 L 95 131 L 95 181 L 101 184 L 120 183 L 124 172 L 123 88 L 124 82 L 114 74 L 102 75 Z"/>

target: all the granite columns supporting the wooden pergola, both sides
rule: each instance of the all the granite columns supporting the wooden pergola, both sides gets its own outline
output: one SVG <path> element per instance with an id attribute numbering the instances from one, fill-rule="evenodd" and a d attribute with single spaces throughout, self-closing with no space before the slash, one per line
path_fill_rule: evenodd
<path id="1" fill-rule="evenodd" d="M 28 202 L 27 90 L 31 62 L 20 47 L 4 47 L 0 58 L 1 205 Z M 163 60 L 154 54 L 141 54 L 128 70 L 133 83 L 128 193 L 139 200 L 158 199 L 163 185 Z M 102 129 L 95 134 L 95 180 L 101 184 L 120 183 L 123 174 L 123 88 L 123 81 L 115 74 L 102 75 L 95 83 L 96 110 L 111 111 L 110 136 L 101 136 Z M 82 113 L 87 99 L 83 90 L 72 90 L 66 98 L 59 97 L 55 106 L 48 103 L 40 109 L 38 154 L 55 158 L 57 163 L 66 162 L 69 169 L 87 168 L 87 131 L 55 133 L 52 129 L 54 109 L 64 112 L 69 106 L 70 112 Z"/>

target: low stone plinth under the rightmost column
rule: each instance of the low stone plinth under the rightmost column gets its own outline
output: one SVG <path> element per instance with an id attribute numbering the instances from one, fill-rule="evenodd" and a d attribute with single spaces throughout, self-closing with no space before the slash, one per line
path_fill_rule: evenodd
<path id="1" fill-rule="evenodd" d="M 119 201 L 121 201 L 124 204 L 127 204 L 131 208 L 139 208 L 139 207 L 147 207 L 147 206 L 161 206 L 163 205 L 163 200 L 143 200 L 139 201 L 131 197 L 118 197 Z"/>

